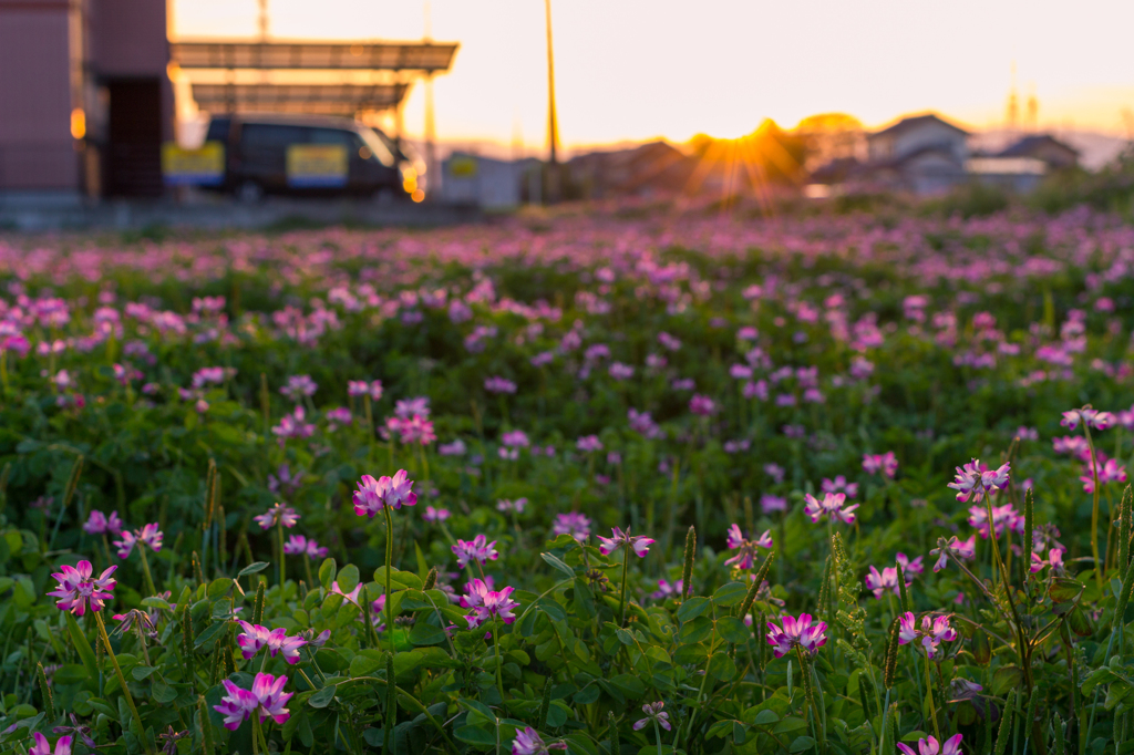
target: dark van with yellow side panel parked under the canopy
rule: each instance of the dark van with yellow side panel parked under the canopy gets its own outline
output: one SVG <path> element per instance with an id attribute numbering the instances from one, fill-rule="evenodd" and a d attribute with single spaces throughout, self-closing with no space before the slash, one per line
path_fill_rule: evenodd
<path id="1" fill-rule="evenodd" d="M 348 118 L 217 116 L 205 142 L 225 145 L 221 186 L 246 202 L 265 194 L 425 196 L 422 167 L 384 134 Z"/>

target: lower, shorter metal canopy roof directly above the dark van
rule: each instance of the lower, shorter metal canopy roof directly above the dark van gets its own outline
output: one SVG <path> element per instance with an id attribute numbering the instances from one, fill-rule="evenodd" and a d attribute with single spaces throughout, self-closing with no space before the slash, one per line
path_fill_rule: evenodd
<path id="1" fill-rule="evenodd" d="M 396 108 L 408 88 L 408 84 L 193 84 L 193 99 L 210 112 L 354 116 Z"/>

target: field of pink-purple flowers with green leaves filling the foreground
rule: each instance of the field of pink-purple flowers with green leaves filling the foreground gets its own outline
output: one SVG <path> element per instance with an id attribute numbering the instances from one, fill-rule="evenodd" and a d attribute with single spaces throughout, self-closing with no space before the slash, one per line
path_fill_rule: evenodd
<path id="1" fill-rule="evenodd" d="M 1132 753 L 1132 273 L 1086 211 L 0 238 L 0 752 Z"/>

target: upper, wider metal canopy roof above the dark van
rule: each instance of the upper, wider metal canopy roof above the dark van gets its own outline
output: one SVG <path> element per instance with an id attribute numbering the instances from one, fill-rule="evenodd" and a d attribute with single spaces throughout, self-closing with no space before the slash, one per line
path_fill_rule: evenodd
<path id="1" fill-rule="evenodd" d="M 234 42 L 170 43 L 181 68 L 276 68 L 442 71 L 452 65 L 456 42 Z"/>

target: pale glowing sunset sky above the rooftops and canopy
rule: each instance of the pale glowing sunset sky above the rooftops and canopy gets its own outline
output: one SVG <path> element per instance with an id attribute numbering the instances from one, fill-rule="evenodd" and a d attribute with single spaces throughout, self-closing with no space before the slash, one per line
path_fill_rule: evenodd
<path id="1" fill-rule="evenodd" d="M 271 34 L 420 39 L 423 0 L 269 0 Z M 433 39 L 460 42 L 435 84 L 442 141 L 547 134 L 541 0 L 432 0 Z M 175 0 L 178 36 L 255 34 L 255 0 Z M 733 137 L 764 118 L 794 126 L 845 111 L 873 126 L 937 110 L 978 128 L 1002 124 L 1016 66 L 1040 122 L 1134 129 L 1134 2 L 1078 0 L 552 0 L 565 145 L 703 132 Z M 1125 117 L 1123 112 L 1126 112 Z M 420 134 L 415 87 L 406 129 Z M 1128 124 L 1128 125 L 1127 125 Z"/>

